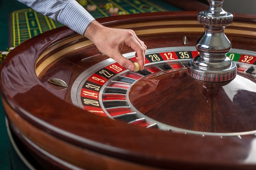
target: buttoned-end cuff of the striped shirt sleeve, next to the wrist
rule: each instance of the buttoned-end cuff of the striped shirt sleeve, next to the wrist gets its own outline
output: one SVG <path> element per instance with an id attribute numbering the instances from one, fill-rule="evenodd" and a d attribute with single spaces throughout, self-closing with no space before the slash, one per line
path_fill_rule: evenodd
<path id="1" fill-rule="evenodd" d="M 88 11 L 84 9 L 76 0 L 67 4 L 62 13 L 58 16 L 58 21 L 68 26 L 70 29 L 83 35 L 88 25 L 94 21 Z"/>

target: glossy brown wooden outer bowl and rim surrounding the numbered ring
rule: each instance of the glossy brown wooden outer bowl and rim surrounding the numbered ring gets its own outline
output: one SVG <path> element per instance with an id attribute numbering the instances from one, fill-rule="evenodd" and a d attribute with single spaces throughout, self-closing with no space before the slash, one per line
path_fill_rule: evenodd
<path id="1" fill-rule="evenodd" d="M 148 49 L 194 46 L 204 31 L 196 14 L 146 13 L 99 22 L 134 29 Z M 254 50 L 255 16 L 237 18 L 226 29 L 232 47 Z M 125 46 L 122 53 L 131 51 Z M 44 160 L 43 168 L 255 169 L 252 135 L 202 137 L 145 129 L 73 106 L 75 79 L 107 58 L 89 40 L 62 27 L 20 44 L 1 64 L 0 89 L 10 126 L 38 162 Z M 50 85 L 49 77 L 65 80 L 68 88 Z"/>

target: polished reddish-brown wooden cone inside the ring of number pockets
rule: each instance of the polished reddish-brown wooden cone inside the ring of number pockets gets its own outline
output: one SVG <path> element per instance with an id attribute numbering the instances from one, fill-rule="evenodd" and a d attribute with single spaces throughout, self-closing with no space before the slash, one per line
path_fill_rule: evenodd
<path id="1" fill-rule="evenodd" d="M 129 99 L 147 117 L 177 128 L 202 134 L 245 132 L 256 129 L 252 89 L 255 78 L 240 72 L 232 81 L 210 83 L 193 79 L 184 68 L 140 79 Z"/>

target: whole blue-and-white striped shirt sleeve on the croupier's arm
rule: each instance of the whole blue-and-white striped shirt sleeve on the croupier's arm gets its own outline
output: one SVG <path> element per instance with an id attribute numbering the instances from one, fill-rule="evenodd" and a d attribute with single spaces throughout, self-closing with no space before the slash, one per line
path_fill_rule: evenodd
<path id="1" fill-rule="evenodd" d="M 95 20 L 76 0 L 18 0 L 83 35 Z"/>

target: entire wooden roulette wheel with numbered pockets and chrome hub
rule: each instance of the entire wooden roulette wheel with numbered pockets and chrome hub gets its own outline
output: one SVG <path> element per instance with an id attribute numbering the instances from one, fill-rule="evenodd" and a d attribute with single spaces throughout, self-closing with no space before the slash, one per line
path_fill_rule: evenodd
<path id="1" fill-rule="evenodd" d="M 255 15 L 233 20 L 222 2 L 99 19 L 145 42 L 143 71 L 67 27 L 13 49 L 2 102 L 38 169 L 255 169 Z"/>

